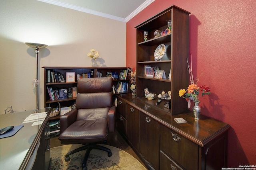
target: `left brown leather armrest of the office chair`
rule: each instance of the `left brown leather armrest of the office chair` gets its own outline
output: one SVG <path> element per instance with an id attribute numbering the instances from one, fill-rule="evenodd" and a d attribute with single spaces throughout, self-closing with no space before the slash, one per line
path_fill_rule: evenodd
<path id="1" fill-rule="evenodd" d="M 60 117 L 60 134 L 76 121 L 77 109 L 72 109 Z"/>

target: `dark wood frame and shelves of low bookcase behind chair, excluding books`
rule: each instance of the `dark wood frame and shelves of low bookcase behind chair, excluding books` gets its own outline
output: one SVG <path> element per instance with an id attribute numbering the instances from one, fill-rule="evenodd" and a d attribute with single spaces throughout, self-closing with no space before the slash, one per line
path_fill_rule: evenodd
<path id="1" fill-rule="evenodd" d="M 53 90 L 57 89 L 58 91 L 60 89 L 68 89 L 72 87 L 77 86 L 77 74 L 83 74 L 83 73 L 92 73 L 93 75 L 91 77 L 97 77 L 97 72 L 100 73 L 101 77 L 106 77 L 107 73 L 116 72 L 118 74 L 117 79 L 113 79 L 113 85 L 116 87 L 118 82 L 126 82 L 128 84 L 128 87 L 130 86 L 130 81 L 128 76 L 126 79 L 120 79 L 119 74 L 123 70 L 126 70 L 126 67 L 48 67 L 44 66 L 44 106 L 45 107 L 57 107 L 60 105 L 60 107 L 68 107 L 72 106 L 75 101 L 76 97 L 70 97 L 66 99 L 55 99 L 51 100 L 50 96 L 48 94 L 48 88 L 52 88 Z M 62 74 L 64 77 L 65 82 L 48 82 L 48 70 L 50 72 L 58 72 L 59 74 Z M 66 82 L 66 72 L 75 72 L 75 82 Z M 113 94 L 113 98 L 116 98 L 116 95 L 118 94 L 126 94 L 130 92 L 130 88 L 128 88 L 128 91 L 126 92 L 120 92 Z M 57 115 L 55 117 L 50 117 L 50 119 L 59 119 L 60 115 Z"/>

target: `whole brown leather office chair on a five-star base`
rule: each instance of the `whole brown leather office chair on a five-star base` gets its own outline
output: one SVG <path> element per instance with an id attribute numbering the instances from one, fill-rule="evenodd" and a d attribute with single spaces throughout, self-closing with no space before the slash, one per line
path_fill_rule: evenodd
<path id="1" fill-rule="evenodd" d="M 99 142 L 106 141 L 108 131 L 115 130 L 116 108 L 112 105 L 112 78 L 82 78 L 77 84 L 76 109 L 60 117 L 60 136 L 62 144 L 84 144 L 66 154 L 86 150 L 82 169 L 87 170 L 86 161 L 92 149 L 101 149 L 112 156 L 110 149 Z"/>

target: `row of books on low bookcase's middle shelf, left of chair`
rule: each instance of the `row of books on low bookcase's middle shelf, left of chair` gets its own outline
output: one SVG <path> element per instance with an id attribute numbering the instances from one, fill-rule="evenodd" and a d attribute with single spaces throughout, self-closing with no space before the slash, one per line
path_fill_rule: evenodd
<path id="1" fill-rule="evenodd" d="M 53 89 L 52 87 L 47 87 L 47 90 L 51 101 L 58 99 L 76 98 L 77 96 L 77 87 L 72 87 L 68 90 L 66 88 L 58 90 L 56 88 Z"/>

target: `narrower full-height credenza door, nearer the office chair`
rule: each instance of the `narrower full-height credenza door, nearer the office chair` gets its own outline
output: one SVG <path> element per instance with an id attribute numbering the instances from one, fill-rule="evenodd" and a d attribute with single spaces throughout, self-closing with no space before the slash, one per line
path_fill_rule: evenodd
<path id="1" fill-rule="evenodd" d="M 140 150 L 140 111 L 127 104 L 127 138 Z"/>

